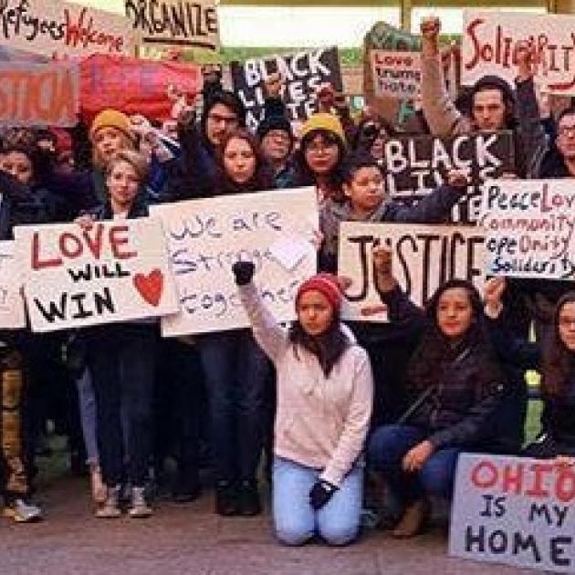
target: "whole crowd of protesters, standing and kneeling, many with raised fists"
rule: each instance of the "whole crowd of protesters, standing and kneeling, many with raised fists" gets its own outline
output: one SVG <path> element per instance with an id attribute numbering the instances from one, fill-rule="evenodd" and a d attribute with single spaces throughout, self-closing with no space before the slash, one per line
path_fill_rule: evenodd
<path id="1" fill-rule="evenodd" d="M 511 130 L 517 172 L 506 177 L 575 175 L 575 107 L 553 117 L 539 105 L 528 46 L 517 48 L 515 89 L 488 76 L 455 102 L 445 89 L 439 31 L 437 19 L 423 21 L 420 133 Z M 177 125 L 109 109 L 84 130 L 5 130 L 0 239 L 16 225 L 89 229 L 97 220 L 144 217 L 151 204 L 235 193 L 252 193 L 257 203 L 262 191 L 312 185 L 320 273 L 298 288 L 288 329 L 259 298 L 253 264 L 241 261 L 230 275 L 251 329 L 193 340 L 162 340 L 150 320 L 3 331 L 5 516 L 42 516 L 35 477 L 50 449 L 48 420 L 68 436 L 72 471 L 89 476 L 96 517 L 120 517 L 126 508 L 130 517 L 150 517 L 168 479 L 174 500 L 192 501 L 207 469 L 222 516 L 261 513 L 267 478 L 275 532 L 288 545 L 357 538 L 370 475 L 399 509 L 393 536 L 406 538 L 424 528 L 430 497 L 450 499 L 461 452 L 572 465 L 570 284 L 495 277 L 479 294 L 452 279 L 423 310 L 392 276 L 391 252 L 376 246 L 374 277 L 390 321 L 340 320 L 349 283 L 337 276 L 340 222 L 445 222 L 468 175 L 453 170 L 420 203 L 398 204 L 386 193 L 382 157 L 401 129 L 373 110 L 352 118 L 345 98 L 322 86 L 317 113 L 295 133 L 273 75 L 265 117 L 251 133 L 241 99 L 213 69 L 204 79 L 201 113 L 183 106 Z M 541 372 L 543 415 L 538 439 L 525 447 L 528 369 Z M 378 511 L 382 523 L 390 519 Z"/>

